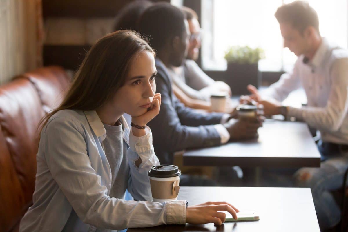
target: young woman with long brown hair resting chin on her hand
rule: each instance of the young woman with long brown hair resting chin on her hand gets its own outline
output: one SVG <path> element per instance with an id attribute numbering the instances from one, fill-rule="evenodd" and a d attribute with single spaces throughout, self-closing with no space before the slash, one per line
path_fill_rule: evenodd
<path id="1" fill-rule="evenodd" d="M 63 103 L 42 120 L 33 206 L 20 231 L 220 225 L 225 214 L 218 211 L 236 217 L 226 202 L 151 202 L 147 173 L 159 162 L 146 124 L 161 103 L 154 55 L 132 31 L 108 34 L 90 49 Z M 126 189 L 141 201 L 123 200 Z"/>

